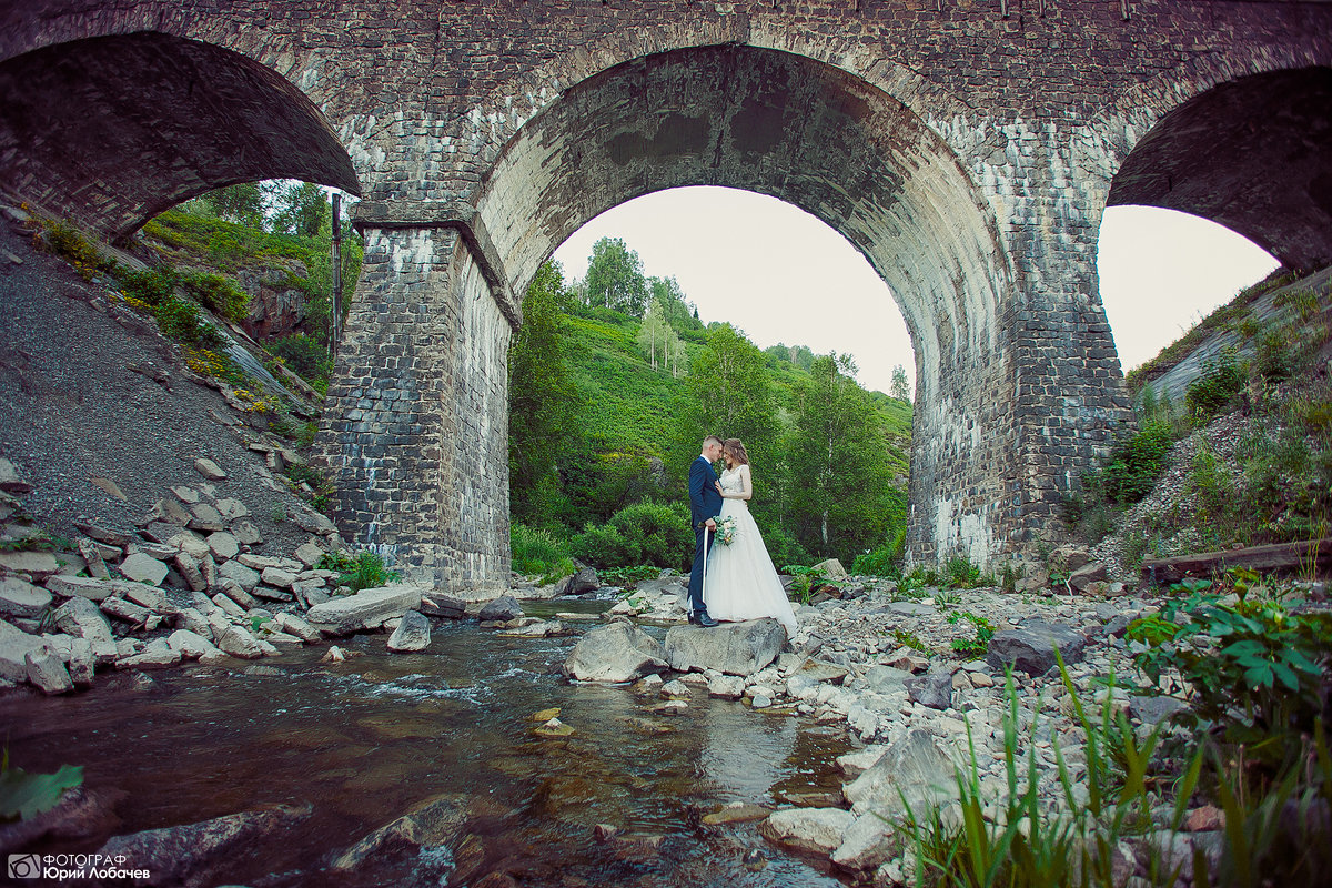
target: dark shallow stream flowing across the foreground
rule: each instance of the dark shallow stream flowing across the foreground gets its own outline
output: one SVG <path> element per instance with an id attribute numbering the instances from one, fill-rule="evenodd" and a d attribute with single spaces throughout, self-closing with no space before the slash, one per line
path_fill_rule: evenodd
<path id="1" fill-rule="evenodd" d="M 0 702 L 0 723 L 19 767 L 81 764 L 87 787 L 128 792 L 117 833 L 273 803 L 310 808 L 236 855 L 218 884 L 450 887 L 498 872 L 561 888 L 840 884 L 767 845 L 754 823 L 699 825 L 726 803 L 835 787 L 834 759 L 848 748 L 839 731 L 702 688 L 682 715 L 663 716 L 655 696 L 629 687 L 569 684 L 559 664 L 574 638 L 457 623 L 422 654 L 388 654 L 385 639 L 348 639 L 364 655 L 341 664 L 321 663 L 317 646 L 233 668 L 160 670 L 147 686 L 120 675 L 88 694 L 13 698 Z M 573 735 L 533 734 L 533 714 L 551 707 Z M 456 811 L 438 844 L 329 868 L 432 800 Z M 598 841 L 602 823 L 619 839 Z M 105 837 L 39 851 L 95 851 Z M 753 848 L 766 865 L 745 864 Z"/>

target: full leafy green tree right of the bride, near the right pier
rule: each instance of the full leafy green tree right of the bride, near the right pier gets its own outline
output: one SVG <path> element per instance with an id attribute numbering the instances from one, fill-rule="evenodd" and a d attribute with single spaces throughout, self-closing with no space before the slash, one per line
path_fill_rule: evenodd
<path id="1" fill-rule="evenodd" d="M 811 553 L 844 563 L 904 521 L 878 413 L 850 355 L 814 359 L 797 387 L 787 445 L 790 521 Z"/>

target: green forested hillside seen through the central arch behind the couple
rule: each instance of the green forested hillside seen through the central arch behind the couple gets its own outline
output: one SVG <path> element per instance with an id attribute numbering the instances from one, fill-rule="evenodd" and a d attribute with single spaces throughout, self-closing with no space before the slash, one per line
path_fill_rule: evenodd
<path id="1" fill-rule="evenodd" d="M 683 475 L 706 434 L 745 441 L 779 566 L 899 550 L 904 391 L 866 391 L 844 355 L 763 351 L 705 325 L 617 240 L 598 241 L 582 281 L 543 266 L 523 313 L 510 353 L 515 570 L 538 570 L 551 549 L 599 567 L 679 567 L 693 546 Z"/>

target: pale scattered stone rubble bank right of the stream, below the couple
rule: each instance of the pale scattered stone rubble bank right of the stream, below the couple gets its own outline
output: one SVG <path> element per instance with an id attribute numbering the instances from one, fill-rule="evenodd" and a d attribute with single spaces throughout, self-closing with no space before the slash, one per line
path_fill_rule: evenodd
<path id="1" fill-rule="evenodd" d="M 578 680 L 637 682 L 638 696 L 665 699 L 651 707 L 657 715 L 679 712 L 689 707 L 691 692 L 706 691 L 742 699 L 755 710 L 846 726 L 866 746 L 838 762 L 847 780 L 840 797 L 781 808 L 759 832 L 775 844 L 827 859 L 858 883 L 908 885 L 914 861 L 904 832 L 895 825 L 902 801 L 918 812 L 935 808 L 946 821 L 958 816 L 955 768 L 970 768 L 968 744 L 975 748 L 982 793 L 991 801 L 987 816 L 1003 816 L 1006 668 L 1012 670 L 1023 738 L 1019 788 L 1034 747 L 1047 815 L 1067 805 L 1056 744 L 1070 768 L 1075 801 L 1087 796 L 1084 735 L 1056 650 L 1079 700 L 1099 711 L 1108 695 L 1110 706 L 1142 731 L 1184 706 L 1175 698 L 1146 695 L 1123 638 L 1130 620 L 1155 607 L 1107 582 L 1084 553 L 1067 550 L 1056 558 L 1056 575 L 1090 578 L 1074 584 L 1072 595 L 1063 582 L 1056 590 L 1028 582 L 1027 592 L 923 590 L 923 596 L 908 598 L 895 583 L 850 576 L 826 588 L 817 606 L 797 608 L 799 630 L 791 639 L 775 620 L 753 620 L 711 630 L 674 626 L 658 646 L 630 616 L 683 620 L 683 578 L 665 574 L 641 583 L 611 608 L 610 622 L 583 635 L 563 668 Z M 975 622 L 963 612 L 995 630 L 983 659 L 963 659 L 952 648 L 955 639 L 976 638 Z M 777 630 L 775 643 L 770 627 Z M 737 651 L 746 652 L 747 662 Z M 1115 679 L 1112 688 L 1104 686 L 1107 676 Z M 1158 813 L 1155 831 L 1116 851 L 1124 884 L 1146 876 L 1152 848 L 1168 848 L 1189 863 L 1193 848 L 1213 864 L 1217 859 L 1221 824 L 1215 817 L 1191 817 L 1173 833 L 1168 812 Z"/>

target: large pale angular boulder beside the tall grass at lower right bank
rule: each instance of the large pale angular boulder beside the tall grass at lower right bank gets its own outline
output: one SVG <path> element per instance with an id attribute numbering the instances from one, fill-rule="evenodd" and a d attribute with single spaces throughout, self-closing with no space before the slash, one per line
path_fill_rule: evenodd
<path id="1" fill-rule="evenodd" d="M 954 774 L 930 732 L 911 728 L 842 792 L 856 816 L 875 812 L 896 820 L 906 813 L 904 800 L 922 817 L 958 797 Z"/>

